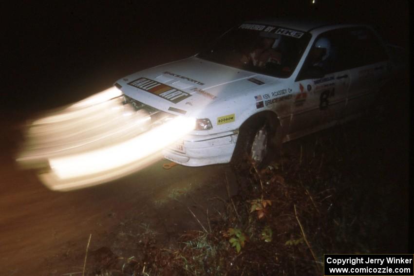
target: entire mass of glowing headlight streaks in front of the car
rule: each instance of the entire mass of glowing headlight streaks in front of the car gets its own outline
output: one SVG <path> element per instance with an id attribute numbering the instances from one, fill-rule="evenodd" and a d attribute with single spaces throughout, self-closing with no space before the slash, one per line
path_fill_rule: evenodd
<path id="1" fill-rule="evenodd" d="M 48 164 L 40 180 L 52 190 L 72 190 L 147 166 L 195 128 L 196 120 L 183 116 L 152 124 L 148 112 L 124 105 L 120 95 L 113 87 L 34 121 L 17 161 L 32 168 Z"/>

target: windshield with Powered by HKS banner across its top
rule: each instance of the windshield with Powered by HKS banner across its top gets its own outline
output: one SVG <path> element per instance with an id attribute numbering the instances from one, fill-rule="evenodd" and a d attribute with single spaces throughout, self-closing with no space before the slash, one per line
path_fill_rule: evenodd
<path id="1" fill-rule="evenodd" d="M 221 36 L 198 57 L 286 78 L 295 70 L 310 37 L 308 33 L 292 29 L 245 23 Z"/>

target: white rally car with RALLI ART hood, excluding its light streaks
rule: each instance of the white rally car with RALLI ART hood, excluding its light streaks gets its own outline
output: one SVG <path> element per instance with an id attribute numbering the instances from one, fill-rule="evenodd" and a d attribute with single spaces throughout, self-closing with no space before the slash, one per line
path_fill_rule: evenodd
<path id="1" fill-rule="evenodd" d="M 197 119 L 164 150 L 185 165 L 263 163 L 285 142 L 355 117 L 393 72 L 387 46 L 365 25 L 245 22 L 201 53 L 119 79 L 126 102 Z"/>

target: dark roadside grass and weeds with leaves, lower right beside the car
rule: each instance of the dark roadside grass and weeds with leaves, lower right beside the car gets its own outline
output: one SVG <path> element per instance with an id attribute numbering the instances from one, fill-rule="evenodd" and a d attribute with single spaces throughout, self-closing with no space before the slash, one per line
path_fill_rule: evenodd
<path id="1" fill-rule="evenodd" d="M 381 253 L 383 240 L 398 239 L 384 225 L 399 202 L 384 172 L 390 162 L 377 150 L 387 141 L 372 142 L 381 131 L 369 120 L 339 126 L 284 145 L 282 158 L 263 170 L 238 168 L 239 193 L 208 215 L 203 232 L 189 231 L 173 247 L 145 243 L 129 272 L 320 275 L 323 254 Z M 188 192 L 172 188 L 168 198 Z"/>

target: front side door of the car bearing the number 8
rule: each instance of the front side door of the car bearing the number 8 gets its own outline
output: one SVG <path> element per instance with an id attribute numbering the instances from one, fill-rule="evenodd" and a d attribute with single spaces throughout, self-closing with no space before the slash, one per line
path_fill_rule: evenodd
<path id="1" fill-rule="evenodd" d="M 320 34 L 318 39 L 327 39 L 330 43 L 329 63 L 321 70 L 315 70 L 312 50 L 303 63 L 296 79 L 295 107 L 292 114 L 290 135 L 302 131 L 329 127 L 342 118 L 346 105 L 346 96 L 350 85 L 350 71 L 341 62 L 343 30 L 334 30 Z M 300 135 L 298 135 L 300 136 Z"/>

